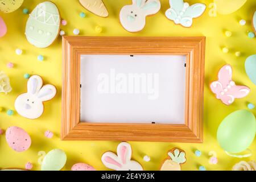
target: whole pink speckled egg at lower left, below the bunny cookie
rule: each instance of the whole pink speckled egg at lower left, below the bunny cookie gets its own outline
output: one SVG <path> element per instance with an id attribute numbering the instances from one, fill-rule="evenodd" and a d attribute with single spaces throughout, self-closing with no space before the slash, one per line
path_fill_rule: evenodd
<path id="1" fill-rule="evenodd" d="M 6 142 L 16 152 L 28 150 L 31 146 L 30 135 L 20 127 L 11 126 L 6 130 Z"/>

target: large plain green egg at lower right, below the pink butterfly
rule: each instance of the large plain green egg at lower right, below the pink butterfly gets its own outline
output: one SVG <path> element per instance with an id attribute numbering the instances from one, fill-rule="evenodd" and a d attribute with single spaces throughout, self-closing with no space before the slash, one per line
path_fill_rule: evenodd
<path id="1" fill-rule="evenodd" d="M 245 151 L 253 142 L 256 133 L 256 121 L 248 110 L 237 110 L 229 114 L 220 124 L 217 140 L 227 152 Z"/>

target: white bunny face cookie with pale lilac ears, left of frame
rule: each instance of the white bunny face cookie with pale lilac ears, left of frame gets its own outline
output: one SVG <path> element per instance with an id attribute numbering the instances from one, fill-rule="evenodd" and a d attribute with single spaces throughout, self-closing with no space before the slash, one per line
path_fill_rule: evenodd
<path id="1" fill-rule="evenodd" d="M 36 119 L 43 114 L 43 101 L 51 100 L 56 94 L 53 85 L 43 85 L 40 76 L 31 76 L 27 82 L 27 93 L 20 94 L 15 100 L 15 109 L 24 118 Z"/>

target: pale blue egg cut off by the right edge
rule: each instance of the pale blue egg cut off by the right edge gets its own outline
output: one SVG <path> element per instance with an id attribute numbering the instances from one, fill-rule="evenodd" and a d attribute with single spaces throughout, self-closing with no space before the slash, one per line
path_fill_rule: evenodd
<path id="1" fill-rule="evenodd" d="M 256 85 L 256 55 L 247 57 L 245 71 L 250 80 Z"/>

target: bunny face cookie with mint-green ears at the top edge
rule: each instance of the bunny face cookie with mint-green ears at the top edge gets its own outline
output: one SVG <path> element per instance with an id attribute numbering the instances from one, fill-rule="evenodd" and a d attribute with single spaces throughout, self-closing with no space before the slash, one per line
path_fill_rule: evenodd
<path id="1" fill-rule="evenodd" d="M 133 0 L 132 5 L 122 7 L 120 22 L 129 32 L 141 31 L 146 25 L 146 16 L 158 13 L 160 7 L 159 0 Z"/>

